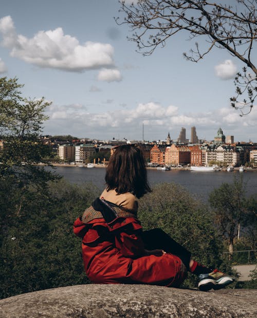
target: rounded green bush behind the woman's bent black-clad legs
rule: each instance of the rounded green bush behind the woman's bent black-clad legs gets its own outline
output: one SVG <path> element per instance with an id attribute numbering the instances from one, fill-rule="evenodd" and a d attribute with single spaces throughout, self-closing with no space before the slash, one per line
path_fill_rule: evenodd
<path id="1" fill-rule="evenodd" d="M 220 257 L 223 246 L 208 207 L 177 184 L 162 183 L 140 199 L 139 219 L 144 229 L 161 228 L 192 253 L 201 264 L 230 272 Z M 185 286 L 195 287 L 189 275 Z"/>

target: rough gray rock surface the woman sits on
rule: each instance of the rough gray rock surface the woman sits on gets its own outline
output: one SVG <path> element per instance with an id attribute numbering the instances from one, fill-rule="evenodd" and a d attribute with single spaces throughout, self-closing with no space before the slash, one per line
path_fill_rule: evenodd
<path id="1" fill-rule="evenodd" d="M 78 285 L 0 301 L 1 318 L 257 317 L 257 290 L 201 292 L 150 285 Z"/>

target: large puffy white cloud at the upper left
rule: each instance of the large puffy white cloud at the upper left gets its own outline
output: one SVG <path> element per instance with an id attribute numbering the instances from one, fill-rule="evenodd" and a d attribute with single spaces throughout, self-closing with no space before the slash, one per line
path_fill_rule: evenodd
<path id="1" fill-rule="evenodd" d="M 40 67 L 81 72 L 113 66 L 114 49 L 110 44 L 79 41 L 65 35 L 62 28 L 39 31 L 33 38 L 16 34 L 11 16 L 0 19 L 2 45 L 10 49 L 12 57 Z"/>

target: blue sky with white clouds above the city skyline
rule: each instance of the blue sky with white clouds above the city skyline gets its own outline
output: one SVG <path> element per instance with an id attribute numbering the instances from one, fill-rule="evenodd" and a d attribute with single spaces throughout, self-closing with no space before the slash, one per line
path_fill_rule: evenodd
<path id="1" fill-rule="evenodd" d="M 181 127 L 190 139 L 195 126 L 199 139 L 213 140 L 221 127 L 235 141 L 257 142 L 257 107 L 240 117 L 230 106 L 244 65 L 226 50 L 187 61 L 182 53 L 195 40 L 181 33 L 144 56 L 127 40 L 130 28 L 114 20 L 123 18 L 118 0 L 1 0 L 0 7 L 0 76 L 18 78 L 24 97 L 52 102 L 44 135 L 175 140 Z"/>

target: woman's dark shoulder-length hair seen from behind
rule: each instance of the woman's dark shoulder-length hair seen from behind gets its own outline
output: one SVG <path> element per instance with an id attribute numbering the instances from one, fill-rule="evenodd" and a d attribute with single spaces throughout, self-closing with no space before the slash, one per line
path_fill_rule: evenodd
<path id="1" fill-rule="evenodd" d="M 116 190 L 118 194 L 131 192 L 140 198 L 151 192 L 140 148 L 131 144 L 116 147 L 106 168 L 105 181 L 107 191 Z"/>

